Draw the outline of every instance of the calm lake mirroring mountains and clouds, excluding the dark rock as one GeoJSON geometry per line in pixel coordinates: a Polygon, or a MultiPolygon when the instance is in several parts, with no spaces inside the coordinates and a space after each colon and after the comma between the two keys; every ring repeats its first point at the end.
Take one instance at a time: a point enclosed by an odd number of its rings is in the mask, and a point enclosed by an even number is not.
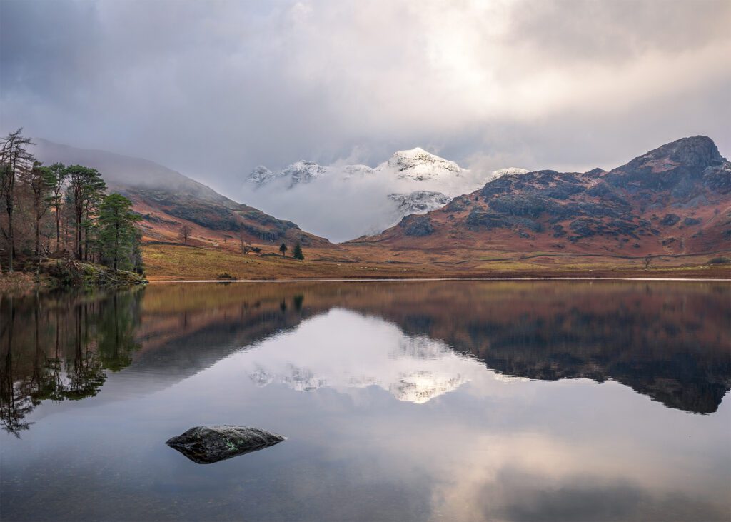
{"type": "Polygon", "coordinates": [[[0,301],[0,517],[728,521],[731,284],[151,284],[0,301]],[[214,464],[197,425],[287,437],[214,464]]]}

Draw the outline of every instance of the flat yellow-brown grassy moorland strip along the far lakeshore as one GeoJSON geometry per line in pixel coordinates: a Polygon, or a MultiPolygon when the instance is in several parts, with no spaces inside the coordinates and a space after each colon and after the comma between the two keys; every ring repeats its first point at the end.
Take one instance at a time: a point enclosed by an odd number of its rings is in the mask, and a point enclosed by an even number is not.
{"type": "MultiPolygon", "coordinates": [[[[150,281],[223,279],[374,279],[501,277],[689,277],[731,278],[721,254],[645,257],[471,249],[417,251],[387,246],[333,245],[305,250],[305,260],[283,257],[275,246],[258,254],[180,244],[143,246],[150,281]],[[718,261],[718,260],[716,260],[718,261]]],[[[731,256],[731,251],[728,252],[731,256]]]]}

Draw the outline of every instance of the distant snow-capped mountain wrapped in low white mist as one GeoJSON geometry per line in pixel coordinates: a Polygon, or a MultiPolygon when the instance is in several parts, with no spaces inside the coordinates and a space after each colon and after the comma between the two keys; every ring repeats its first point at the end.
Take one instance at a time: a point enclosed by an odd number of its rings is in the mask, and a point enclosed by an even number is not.
{"type": "Polygon", "coordinates": [[[409,214],[441,208],[455,195],[477,189],[490,179],[522,172],[527,171],[509,168],[483,175],[417,147],[396,151],[376,167],[299,161],[272,171],[260,165],[246,178],[245,189],[252,190],[273,213],[287,214],[314,229],[322,227],[325,234],[343,235],[314,218],[327,208],[328,218],[346,224],[344,235],[353,238],[381,232],[409,214]],[[284,206],[282,197],[292,189],[297,189],[300,197],[284,206]],[[332,204],[355,194],[361,202],[369,202],[357,214],[352,212],[352,204],[332,204]]]}

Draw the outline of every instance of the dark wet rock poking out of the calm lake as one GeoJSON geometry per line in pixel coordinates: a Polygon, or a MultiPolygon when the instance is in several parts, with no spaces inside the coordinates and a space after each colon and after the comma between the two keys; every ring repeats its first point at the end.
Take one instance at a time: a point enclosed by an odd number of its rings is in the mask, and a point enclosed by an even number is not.
{"type": "Polygon", "coordinates": [[[212,464],[282,442],[285,437],[246,426],[195,426],[165,444],[198,464],[212,464]]]}

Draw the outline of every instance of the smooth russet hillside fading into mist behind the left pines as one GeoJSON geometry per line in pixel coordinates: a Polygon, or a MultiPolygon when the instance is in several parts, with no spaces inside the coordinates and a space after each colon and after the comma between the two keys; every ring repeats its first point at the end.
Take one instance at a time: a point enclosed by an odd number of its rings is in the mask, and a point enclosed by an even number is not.
{"type": "Polygon", "coordinates": [[[231,240],[300,241],[324,245],[324,238],[300,230],[296,224],[242,203],[236,203],[181,173],[146,159],[122,156],[36,140],[33,153],[45,164],[83,164],[102,173],[110,192],[129,197],[143,216],[146,241],[178,241],[183,224],[192,229],[194,244],[218,245],[231,240]]]}

